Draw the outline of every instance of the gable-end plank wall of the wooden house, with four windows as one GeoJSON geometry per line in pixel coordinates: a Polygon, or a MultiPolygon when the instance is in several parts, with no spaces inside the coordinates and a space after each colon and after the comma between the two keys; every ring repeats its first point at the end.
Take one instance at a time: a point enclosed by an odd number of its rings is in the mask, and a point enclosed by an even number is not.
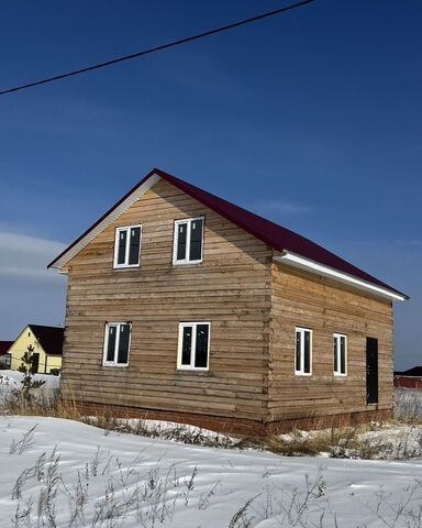
{"type": "Polygon", "coordinates": [[[263,421],[273,251],[160,180],[68,264],[63,394],[85,403],[263,421]],[[203,262],[173,265],[174,221],[204,216],[203,262]],[[142,224],[141,266],[113,270],[115,228],[142,224]],[[177,371],[178,324],[210,321],[209,372],[177,371]],[[129,367],[104,324],[132,321],[129,367]]]}

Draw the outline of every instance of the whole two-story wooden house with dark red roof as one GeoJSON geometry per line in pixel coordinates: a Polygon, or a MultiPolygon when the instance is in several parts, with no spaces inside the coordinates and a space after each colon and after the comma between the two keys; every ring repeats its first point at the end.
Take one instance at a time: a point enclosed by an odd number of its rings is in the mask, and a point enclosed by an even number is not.
{"type": "Polygon", "coordinates": [[[63,396],[262,432],[392,409],[392,302],[310,240],[159,169],[49,266],[68,275],[63,396]]]}

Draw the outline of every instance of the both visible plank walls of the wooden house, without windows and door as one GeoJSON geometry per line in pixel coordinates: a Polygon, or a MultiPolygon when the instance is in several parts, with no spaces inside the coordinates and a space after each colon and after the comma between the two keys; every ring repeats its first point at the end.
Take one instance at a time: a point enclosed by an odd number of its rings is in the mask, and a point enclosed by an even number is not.
{"type": "MultiPolygon", "coordinates": [[[[275,424],[390,409],[391,305],[273,263],[273,250],[160,180],[67,266],[65,398],[275,424]],[[206,217],[203,262],[174,266],[177,219],[206,217]],[[141,267],[113,270],[116,227],[142,224],[141,267]],[[209,372],[177,371],[178,323],[211,321],[209,372]],[[127,369],[102,365],[104,324],[132,321],[127,369]],[[312,376],[295,375],[295,328],[313,330],[312,376]],[[333,333],[348,337],[333,375],[333,333]],[[379,340],[366,406],[366,337],[379,340]]],[[[195,421],[195,420],[193,420],[195,421]]]]}

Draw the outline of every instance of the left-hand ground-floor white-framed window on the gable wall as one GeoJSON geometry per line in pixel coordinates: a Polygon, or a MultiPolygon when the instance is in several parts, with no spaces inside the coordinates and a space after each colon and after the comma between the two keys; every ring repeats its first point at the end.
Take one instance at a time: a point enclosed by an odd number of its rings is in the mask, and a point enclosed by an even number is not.
{"type": "Polygon", "coordinates": [[[108,322],[106,324],[104,366],[127,366],[131,350],[131,322],[108,322]]]}

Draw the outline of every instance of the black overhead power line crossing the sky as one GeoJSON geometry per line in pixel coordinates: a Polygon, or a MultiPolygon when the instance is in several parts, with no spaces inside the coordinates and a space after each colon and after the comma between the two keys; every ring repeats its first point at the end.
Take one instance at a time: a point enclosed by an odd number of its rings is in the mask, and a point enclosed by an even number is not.
{"type": "Polygon", "coordinates": [[[291,11],[293,9],[302,8],[309,3],[314,2],[315,0],[303,0],[300,2],[291,3],[290,6],[285,6],[284,8],[275,9],[274,11],[268,11],[266,13],[257,14],[256,16],[251,16],[248,19],[240,20],[227,25],[222,25],[220,28],[214,28],[213,30],[204,31],[202,33],[197,33],[196,35],[186,36],[185,38],[179,38],[178,41],[167,42],[166,44],[160,44],[155,47],[149,47],[148,50],[143,50],[141,52],[132,53],[131,55],[124,55],[121,57],[112,58],[103,63],[95,64],[92,66],[87,66],[85,68],[75,69],[66,74],[55,75],[53,77],[47,77],[45,79],[35,80],[34,82],[27,82],[25,85],[15,86],[14,88],[8,88],[7,90],[0,91],[0,96],[5,96],[13,91],[25,90],[27,88],[33,88],[34,86],[46,85],[48,82],[54,82],[56,80],[66,79],[67,77],[74,77],[75,75],[86,74],[88,72],[93,72],[95,69],[107,68],[113,66],[114,64],[123,63],[125,61],[132,61],[133,58],[143,57],[144,55],[151,55],[152,53],[162,52],[168,50],[169,47],[180,46],[192,41],[198,41],[199,38],[204,38],[206,36],[215,35],[216,33],[222,33],[224,31],[233,30],[240,28],[241,25],[251,24],[252,22],[257,22],[263,19],[268,19],[269,16],[275,16],[276,14],[285,13],[286,11],[291,11]]]}

